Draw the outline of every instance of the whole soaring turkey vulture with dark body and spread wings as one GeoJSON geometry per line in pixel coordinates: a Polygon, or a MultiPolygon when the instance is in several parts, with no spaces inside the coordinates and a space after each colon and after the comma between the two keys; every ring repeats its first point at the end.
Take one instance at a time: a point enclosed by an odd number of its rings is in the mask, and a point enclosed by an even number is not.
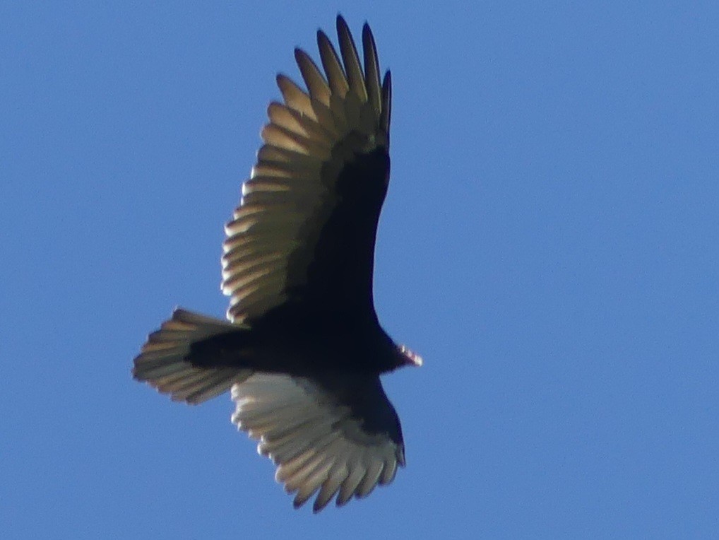
{"type": "Polygon", "coordinates": [[[226,225],[229,322],[176,309],[134,359],[134,378],[196,404],[232,389],[232,421],[278,465],[295,508],[318,512],[395,477],[400,422],[380,374],[420,366],[377,320],[377,220],[390,174],[390,72],[380,83],[370,27],[364,67],[337,17],[339,55],[319,30],[324,75],[300,49],[306,83],[277,83],[264,144],[226,225]]]}

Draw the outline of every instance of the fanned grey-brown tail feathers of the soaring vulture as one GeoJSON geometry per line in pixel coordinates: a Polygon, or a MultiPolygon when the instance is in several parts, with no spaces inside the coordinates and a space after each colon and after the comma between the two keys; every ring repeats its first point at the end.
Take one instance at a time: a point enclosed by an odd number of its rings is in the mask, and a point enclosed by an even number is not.
{"type": "Polygon", "coordinates": [[[226,392],[236,382],[252,374],[250,369],[230,366],[198,367],[186,360],[192,343],[211,336],[237,330],[237,325],[224,320],[176,309],[150,334],[142,351],[134,359],[132,375],[162,393],[169,393],[174,401],[196,405],[226,392]]]}

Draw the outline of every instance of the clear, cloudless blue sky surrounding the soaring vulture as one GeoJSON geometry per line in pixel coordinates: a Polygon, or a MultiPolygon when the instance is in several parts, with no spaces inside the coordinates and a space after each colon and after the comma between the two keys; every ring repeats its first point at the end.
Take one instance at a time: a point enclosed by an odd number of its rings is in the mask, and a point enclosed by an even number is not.
{"type": "Polygon", "coordinates": [[[715,2],[0,4],[3,538],[719,534],[715,2]],[[62,5],[62,6],[61,6],[62,5]],[[375,303],[390,487],[319,516],[132,381],[222,316],[275,73],[338,12],[393,73],[375,303]]]}

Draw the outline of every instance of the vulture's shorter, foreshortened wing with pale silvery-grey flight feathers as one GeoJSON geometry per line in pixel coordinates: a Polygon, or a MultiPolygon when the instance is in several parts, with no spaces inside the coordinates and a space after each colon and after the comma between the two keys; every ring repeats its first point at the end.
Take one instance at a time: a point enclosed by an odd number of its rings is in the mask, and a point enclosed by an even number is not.
{"type": "Polygon", "coordinates": [[[295,508],[319,494],[318,512],[392,482],[405,464],[399,419],[378,377],[324,379],[254,374],[232,387],[232,421],[278,464],[278,482],[297,492],[295,508]]]}

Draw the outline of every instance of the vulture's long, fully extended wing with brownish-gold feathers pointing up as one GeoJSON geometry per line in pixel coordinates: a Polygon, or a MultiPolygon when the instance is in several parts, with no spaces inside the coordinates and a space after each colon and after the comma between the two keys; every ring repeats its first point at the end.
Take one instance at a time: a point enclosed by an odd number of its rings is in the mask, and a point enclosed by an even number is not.
{"type": "Polygon", "coordinates": [[[374,312],[375,233],[389,179],[390,73],[380,86],[367,24],[364,70],[342,17],[337,33],[342,61],[317,34],[326,78],[295,50],[308,93],[278,76],[284,103],[267,109],[265,144],[225,228],[222,290],[231,297],[230,320],[257,318],[287,300],[323,312],[374,312]]]}

